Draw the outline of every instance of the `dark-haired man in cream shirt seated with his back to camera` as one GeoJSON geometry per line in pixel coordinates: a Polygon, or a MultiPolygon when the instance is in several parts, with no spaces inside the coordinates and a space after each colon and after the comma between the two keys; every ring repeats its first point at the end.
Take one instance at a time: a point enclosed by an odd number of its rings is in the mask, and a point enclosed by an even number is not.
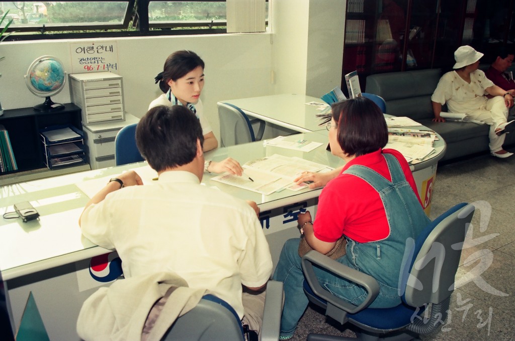
{"type": "Polygon", "coordinates": [[[84,208],[82,234],[116,249],[126,278],[175,273],[227,301],[259,332],[264,295],[242,300],[243,289],[260,292],[272,271],[259,208],[200,184],[202,142],[199,120],[186,107],[150,109],[136,143],[159,181],[143,186],[134,171],[111,179],[84,208]]]}

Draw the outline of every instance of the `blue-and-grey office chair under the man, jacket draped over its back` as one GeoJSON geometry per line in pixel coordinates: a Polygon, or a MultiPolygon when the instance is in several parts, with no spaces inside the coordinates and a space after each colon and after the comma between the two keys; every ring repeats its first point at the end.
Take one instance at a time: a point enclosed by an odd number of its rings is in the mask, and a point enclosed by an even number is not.
{"type": "MultiPolygon", "coordinates": [[[[262,341],[279,340],[283,302],[283,283],[268,281],[265,310],[261,328],[262,341]]],[[[244,340],[242,322],[229,304],[213,295],[205,295],[200,302],[179,317],[161,341],[244,340]]]]}

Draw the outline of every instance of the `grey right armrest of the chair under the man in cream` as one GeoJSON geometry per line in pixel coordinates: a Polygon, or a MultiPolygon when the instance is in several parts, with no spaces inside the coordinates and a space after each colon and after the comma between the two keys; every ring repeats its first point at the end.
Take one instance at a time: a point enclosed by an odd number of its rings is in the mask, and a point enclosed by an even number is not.
{"type": "Polygon", "coordinates": [[[283,283],[268,281],[266,284],[265,310],[261,326],[261,341],[279,340],[281,314],[283,311],[283,283]]]}

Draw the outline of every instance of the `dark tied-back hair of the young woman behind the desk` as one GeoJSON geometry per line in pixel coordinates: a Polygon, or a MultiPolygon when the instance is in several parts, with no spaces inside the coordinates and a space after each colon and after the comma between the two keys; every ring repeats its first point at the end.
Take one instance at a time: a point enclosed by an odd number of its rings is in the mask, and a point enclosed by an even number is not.
{"type": "Polygon", "coordinates": [[[204,61],[197,53],[188,50],[175,51],[166,58],[163,66],[163,79],[159,82],[159,87],[163,93],[167,93],[170,80],[177,81],[179,78],[197,67],[204,69],[204,61]]]}

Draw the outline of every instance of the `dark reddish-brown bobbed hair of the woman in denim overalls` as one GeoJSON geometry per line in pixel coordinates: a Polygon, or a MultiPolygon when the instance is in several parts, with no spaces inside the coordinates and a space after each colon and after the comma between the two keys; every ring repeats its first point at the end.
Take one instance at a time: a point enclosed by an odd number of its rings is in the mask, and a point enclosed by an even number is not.
{"type": "Polygon", "coordinates": [[[382,149],[388,142],[383,113],[370,99],[356,97],[332,105],[337,140],[349,156],[361,156],[382,149]]]}

